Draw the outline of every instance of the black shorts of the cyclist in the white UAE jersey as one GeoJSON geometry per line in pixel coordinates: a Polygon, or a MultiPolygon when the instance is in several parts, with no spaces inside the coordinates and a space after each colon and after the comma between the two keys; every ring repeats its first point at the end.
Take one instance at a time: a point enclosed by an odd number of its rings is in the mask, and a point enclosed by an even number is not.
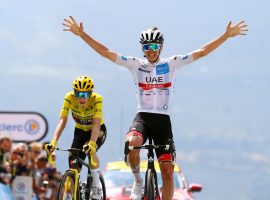
{"type": "MultiPolygon", "coordinates": [[[[142,134],[143,144],[148,137],[152,137],[156,145],[166,145],[169,139],[173,140],[169,115],[139,112],[129,128],[129,133],[132,131],[142,134]]],[[[157,158],[160,158],[163,154],[170,154],[170,152],[165,149],[156,149],[157,158]]]]}

